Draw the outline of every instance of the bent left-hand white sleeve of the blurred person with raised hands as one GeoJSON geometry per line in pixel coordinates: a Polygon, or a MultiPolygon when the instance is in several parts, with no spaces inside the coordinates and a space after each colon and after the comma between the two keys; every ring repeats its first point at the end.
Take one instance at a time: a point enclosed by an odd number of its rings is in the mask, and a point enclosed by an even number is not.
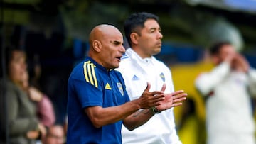
{"type": "Polygon", "coordinates": [[[198,89],[198,91],[201,92],[203,96],[207,96],[229,72],[230,65],[227,62],[221,63],[211,72],[200,74],[196,78],[196,89],[198,89]]]}

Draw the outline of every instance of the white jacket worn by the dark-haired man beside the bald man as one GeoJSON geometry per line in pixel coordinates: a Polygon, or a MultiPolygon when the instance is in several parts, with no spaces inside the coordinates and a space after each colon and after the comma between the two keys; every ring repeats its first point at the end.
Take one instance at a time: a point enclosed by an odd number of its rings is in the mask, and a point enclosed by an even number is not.
{"type": "MultiPolygon", "coordinates": [[[[132,48],[126,50],[117,69],[122,73],[127,92],[131,100],[138,99],[146,89],[146,82],[151,84],[150,91],[161,90],[166,83],[165,93],[174,92],[171,71],[155,57],[142,59],[132,48]]],[[[133,131],[122,126],[124,144],[181,144],[176,134],[173,108],[153,116],[144,125],[133,131]]]]}

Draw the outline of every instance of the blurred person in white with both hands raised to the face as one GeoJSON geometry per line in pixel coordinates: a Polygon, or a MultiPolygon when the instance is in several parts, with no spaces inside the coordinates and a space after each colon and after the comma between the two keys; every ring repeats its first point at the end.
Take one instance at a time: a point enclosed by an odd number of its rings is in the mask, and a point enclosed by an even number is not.
{"type": "Polygon", "coordinates": [[[208,144],[255,144],[255,123],[250,96],[256,96],[256,70],[233,45],[210,47],[215,65],[196,78],[196,88],[206,99],[208,144]]]}

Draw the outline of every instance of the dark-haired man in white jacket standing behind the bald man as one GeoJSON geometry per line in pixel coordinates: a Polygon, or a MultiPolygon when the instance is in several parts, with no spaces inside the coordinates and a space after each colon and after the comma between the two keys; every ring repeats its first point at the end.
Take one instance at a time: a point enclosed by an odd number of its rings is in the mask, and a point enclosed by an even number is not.
{"type": "MultiPolygon", "coordinates": [[[[124,32],[131,48],[128,48],[117,69],[122,73],[126,89],[131,100],[138,99],[147,82],[150,91],[160,90],[166,84],[165,93],[174,92],[174,84],[169,67],[157,60],[154,55],[161,52],[163,35],[158,16],[152,13],[132,13],[124,22],[124,32]]],[[[156,116],[134,131],[122,126],[124,144],[180,144],[174,123],[174,109],[167,111],[156,109],[156,116]],[[161,113],[160,113],[161,112],[161,113]]],[[[149,109],[143,109],[143,115],[149,109]]],[[[139,115],[138,114],[138,115],[139,115]]]]}

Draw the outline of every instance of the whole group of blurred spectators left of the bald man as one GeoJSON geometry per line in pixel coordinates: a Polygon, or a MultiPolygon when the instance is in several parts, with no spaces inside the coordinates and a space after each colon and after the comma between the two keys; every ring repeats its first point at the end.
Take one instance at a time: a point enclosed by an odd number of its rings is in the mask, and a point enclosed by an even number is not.
{"type": "Polygon", "coordinates": [[[6,78],[0,81],[0,143],[65,143],[65,123],[55,123],[52,101],[41,92],[40,65],[28,72],[26,52],[6,48],[6,78]],[[4,98],[4,99],[2,99],[4,98]]]}

